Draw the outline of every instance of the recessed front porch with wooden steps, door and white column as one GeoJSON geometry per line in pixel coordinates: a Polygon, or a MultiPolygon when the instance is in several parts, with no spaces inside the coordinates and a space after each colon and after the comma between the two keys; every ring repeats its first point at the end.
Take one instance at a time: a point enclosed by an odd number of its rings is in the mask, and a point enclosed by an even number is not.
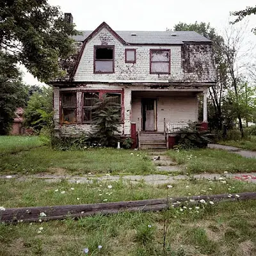
{"type": "Polygon", "coordinates": [[[172,148],[175,136],[188,122],[198,121],[197,95],[204,93],[204,122],[207,129],[205,92],[132,92],[131,138],[138,148],[172,148]]]}

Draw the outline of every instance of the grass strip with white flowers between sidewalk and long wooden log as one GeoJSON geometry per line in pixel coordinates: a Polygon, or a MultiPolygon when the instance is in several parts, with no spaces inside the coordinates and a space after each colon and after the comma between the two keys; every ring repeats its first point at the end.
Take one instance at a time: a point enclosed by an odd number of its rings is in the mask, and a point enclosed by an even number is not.
{"type": "Polygon", "coordinates": [[[23,182],[15,179],[0,180],[0,202],[4,207],[10,208],[256,191],[256,184],[237,180],[227,180],[225,184],[221,180],[182,180],[172,186],[173,188],[168,189],[166,185],[150,186],[144,182],[127,184],[123,180],[110,183],[95,181],[92,184],[70,184],[66,181],[49,183],[37,179],[23,182]],[[109,185],[112,188],[108,188],[109,185]]]}

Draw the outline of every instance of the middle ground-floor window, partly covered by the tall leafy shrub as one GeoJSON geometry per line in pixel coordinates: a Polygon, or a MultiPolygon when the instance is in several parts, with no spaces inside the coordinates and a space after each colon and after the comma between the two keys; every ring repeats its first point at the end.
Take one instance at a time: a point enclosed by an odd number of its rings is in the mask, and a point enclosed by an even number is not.
{"type": "Polygon", "coordinates": [[[99,99],[99,93],[84,92],[83,122],[92,122],[95,118],[95,104],[99,99]]]}

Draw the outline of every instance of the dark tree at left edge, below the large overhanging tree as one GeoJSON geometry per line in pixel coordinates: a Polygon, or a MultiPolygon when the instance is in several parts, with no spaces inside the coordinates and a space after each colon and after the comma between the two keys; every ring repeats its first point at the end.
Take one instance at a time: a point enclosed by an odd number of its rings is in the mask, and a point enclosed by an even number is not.
{"type": "Polygon", "coordinates": [[[14,111],[25,104],[27,88],[22,74],[13,67],[13,56],[0,51],[0,135],[8,134],[14,111]]]}

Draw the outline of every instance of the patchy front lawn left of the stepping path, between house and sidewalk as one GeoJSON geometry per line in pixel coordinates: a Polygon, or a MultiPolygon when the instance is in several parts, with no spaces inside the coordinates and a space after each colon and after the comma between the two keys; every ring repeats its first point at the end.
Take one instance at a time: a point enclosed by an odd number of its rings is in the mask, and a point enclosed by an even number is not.
{"type": "Polygon", "coordinates": [[[115,148],[60,151],[45,146],[0,158],[1,173],[148,174],[155,170],[144,152],[115,148]]]}

